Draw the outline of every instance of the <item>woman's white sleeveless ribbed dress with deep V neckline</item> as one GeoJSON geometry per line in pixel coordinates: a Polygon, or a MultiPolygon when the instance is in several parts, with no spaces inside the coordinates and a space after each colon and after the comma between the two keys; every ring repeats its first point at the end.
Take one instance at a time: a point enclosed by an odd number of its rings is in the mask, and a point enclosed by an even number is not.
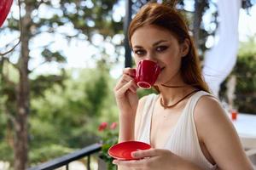
{"type": "MultiPolygon", "coordinates": [[[[171,133],[167,134],[169,137],[167,138],[164,148],[160,149],[171,150],[172,153],[181,156],[188,161],[194,162],[202,169],[212,170],[216,169],[217,166],[212,165],[212,163],[203,155],[197,138],[194,121],[195,105],[203,95],[211,94],[199,91],[189,98],[176,125],[172,127],[171,133]]],[[[150,144],[151,117],[157,98],[158,95],[156,94],[149,94],[147,96],[143,109],[142,122],[139,127],[138,141],[150,144]]]]}

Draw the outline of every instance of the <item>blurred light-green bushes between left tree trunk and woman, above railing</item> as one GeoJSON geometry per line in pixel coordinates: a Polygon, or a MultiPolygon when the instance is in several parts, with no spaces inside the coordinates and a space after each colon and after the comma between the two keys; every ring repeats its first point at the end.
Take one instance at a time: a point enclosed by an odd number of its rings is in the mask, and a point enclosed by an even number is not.
{"type": "Polygon", "coordinates": [[[44,91],[42,97],[32,99],[32,163],[57,156],[58,152],[46,145],[60,145],[74,150],[99,141],[100,133],[96,133],[98,124],[117,120],[117,108],[113,95],[109,93],[114,81],[109,77],[108,70],[96,68],[68,72],[64,88],[54,84],[44,91]],[[39,159],[42,150],[44,156],[39,159]]]}

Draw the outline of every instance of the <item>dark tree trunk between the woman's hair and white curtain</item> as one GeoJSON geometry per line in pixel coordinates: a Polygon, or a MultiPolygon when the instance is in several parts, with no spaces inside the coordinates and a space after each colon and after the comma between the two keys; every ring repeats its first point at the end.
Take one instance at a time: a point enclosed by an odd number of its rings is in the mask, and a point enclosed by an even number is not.
{"type": "Polygon", "coordinates": [[[200,27],[204,8],[207,6],[207,0],[195,0],[195,14],[193,21],[193,37],[195,40],[195,47],[200,47],[200,27]]]}

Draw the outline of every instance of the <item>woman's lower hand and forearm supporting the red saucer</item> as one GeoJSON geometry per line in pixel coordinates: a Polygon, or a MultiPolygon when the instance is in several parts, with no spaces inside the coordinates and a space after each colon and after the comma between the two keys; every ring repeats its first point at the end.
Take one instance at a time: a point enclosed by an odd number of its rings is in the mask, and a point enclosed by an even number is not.
{"type": "Polygon", "coordinates": [[[170,150],[150,149],[139,150],[131,153],[138,160],[120,161],[114,160],[113,164],[129,169],[147,170],[172,170],[172,169],[200,169],[189,161],[173,154],[170,150]]]}

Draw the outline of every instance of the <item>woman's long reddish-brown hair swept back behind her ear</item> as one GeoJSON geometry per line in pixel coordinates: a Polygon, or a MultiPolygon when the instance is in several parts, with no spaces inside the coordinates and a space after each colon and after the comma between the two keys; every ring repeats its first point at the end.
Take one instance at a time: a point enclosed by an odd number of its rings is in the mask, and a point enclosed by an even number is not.
{"type": "MultiPolygon", "coordinates": [[[[175,8],[166,4],[147,3],[135,15],[128,30],[128,38],[131,46],[131,36],[142,26],[160,26],[172,33],[179,43],[189,40],[189,53],[182,58],[181,76],[183,81],[195,88],[209,92],[207,83],[201,73],[200,59],[197,55],[195,44],[189,36],[189,28],[175,8]]],[[[159,89],[155,87],[159,92],[159,89]]]]}

